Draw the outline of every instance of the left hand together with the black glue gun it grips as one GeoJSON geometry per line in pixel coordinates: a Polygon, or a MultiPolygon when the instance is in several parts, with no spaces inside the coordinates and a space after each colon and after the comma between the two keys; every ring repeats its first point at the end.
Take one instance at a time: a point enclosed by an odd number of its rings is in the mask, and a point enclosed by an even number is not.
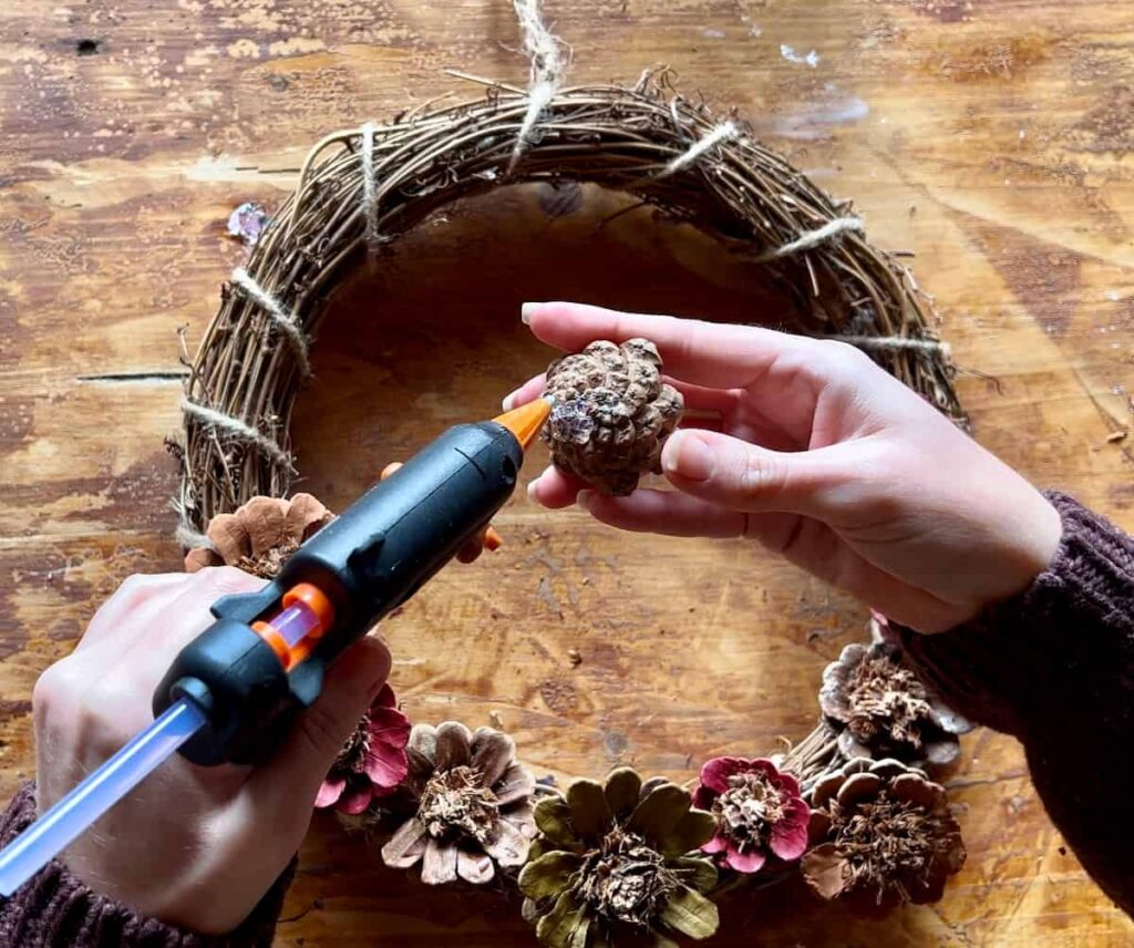
{"type": "Polygon", "coordinates": [[[67,848],[75,875],[137,912],[200,932],[239,924],[386,682],[389,652],[366,632],[451,559],[499,542],[489,522],[548,412],[536,400],[450,429],[266,585],[229,568],[124,585],[36,685],[40,818],[0,850],[0,896],[67,848]]]}

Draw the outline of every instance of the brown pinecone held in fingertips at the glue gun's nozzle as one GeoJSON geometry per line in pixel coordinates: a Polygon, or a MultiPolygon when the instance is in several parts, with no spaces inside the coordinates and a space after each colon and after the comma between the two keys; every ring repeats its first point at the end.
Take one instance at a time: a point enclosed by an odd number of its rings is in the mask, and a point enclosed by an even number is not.
{"type": "Polygon", "coordinates": [[[632,493],[645,472],[661,471],[662,445],[684,407],[646,339],[592,342],[557,359],[544,395],[552,408],[543,438],[556,466],[615,496],[632,493]]]}

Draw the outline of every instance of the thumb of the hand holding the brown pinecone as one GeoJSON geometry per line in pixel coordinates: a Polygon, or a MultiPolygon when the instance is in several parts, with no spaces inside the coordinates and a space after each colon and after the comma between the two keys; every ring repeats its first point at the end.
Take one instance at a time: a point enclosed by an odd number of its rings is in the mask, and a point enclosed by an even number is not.
{"type": "Polygon", "coordinates": [[[678,490],[733,510],[822,520],[832,511],[831,455],[837,450],[770,451],[727,434],[685,429],[666,441],[661,467],[678,490]]]}

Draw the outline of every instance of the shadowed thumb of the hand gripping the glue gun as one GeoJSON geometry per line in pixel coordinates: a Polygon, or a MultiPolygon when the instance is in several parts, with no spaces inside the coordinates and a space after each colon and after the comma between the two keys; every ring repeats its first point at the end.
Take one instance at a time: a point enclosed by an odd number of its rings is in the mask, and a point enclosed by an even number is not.
{"type": "Polygon", "coordinates": [[[323,693],[296,719],[272,760],[256,771],[269,795],[282,792],[284,805],[311,809],[319,786],[344,743],[357,727],[390,674],[390,650],[373,635],[356,642],[331,666],[323,693]]]}

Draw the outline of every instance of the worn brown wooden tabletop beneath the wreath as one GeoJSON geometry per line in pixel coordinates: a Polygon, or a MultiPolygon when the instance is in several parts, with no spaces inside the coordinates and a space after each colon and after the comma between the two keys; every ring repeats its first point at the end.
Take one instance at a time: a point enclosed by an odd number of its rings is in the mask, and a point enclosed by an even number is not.
{"type": "MultiPolygon", "coordinates": [[[[1134,8],[550,0],[548,16],[575,79],[668,62],[853,197],[879,244],[915,251],[979,438],[1134,527],[1134,8]]],[[[503,0],[0,8],[0,790],[33,772],[36,676],[124,577],[178,567],[177,331],[196,345],[242,259],[229,211],[279,203],[328,129],[481,94],[443,67],[522,82],[516,44],[503,0]]],[[[355,274],[297,409],[304,485],[341,506],[491,414],[548,358],[523,299],[784,318],[704,238],[644,213],[599,228],[618,202],[500,193],[355,274]]],[[[863,634],[861,608],[745,545],[620,536],[524,501],[500,528],[505,550],[389,623],[393,682],[416,719],[502,726],[539,772],[686,779],[708,754],[772,750],[806,733],[821,668],[863,634]]],[[[964,754],[970,857],[943,902],[866,923],[773,892],[733,905],[714,943],[1129,943],[1014,743],[978,731],[964,754]]],[[[285,916],[289,946],[531,941],[515,905],[426,891],[323,818],[285,916]]]]}

